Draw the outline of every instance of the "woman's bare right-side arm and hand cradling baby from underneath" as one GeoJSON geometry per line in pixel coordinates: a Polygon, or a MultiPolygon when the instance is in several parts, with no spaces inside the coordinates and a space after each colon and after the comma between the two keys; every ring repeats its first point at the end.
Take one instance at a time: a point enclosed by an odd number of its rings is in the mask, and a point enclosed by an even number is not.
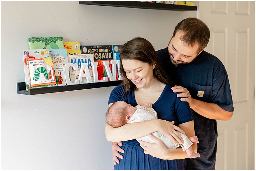
{"type": "MultiPolygon", "coordinates": [[[[179,127],[185,131],[185,135],[187,135],[188,137],[195,136],[194,121],[182,123],[179,125],[179,127]]],[[[188,158],[187,153],[184,152],[182,148],[167,149],[160,139],[154,137],[153,135],[150,135],[150,137],[156,142],[156,144],[147,143],[139,140],[140,146],[144,149],[145,154],[150,154],[153,157],[157,157],[159,159],[164,160],[188,158]]],[[[193,151],[197,152],[197,144],[193,143],[193,145],[191,146],[193,151]]]]}

